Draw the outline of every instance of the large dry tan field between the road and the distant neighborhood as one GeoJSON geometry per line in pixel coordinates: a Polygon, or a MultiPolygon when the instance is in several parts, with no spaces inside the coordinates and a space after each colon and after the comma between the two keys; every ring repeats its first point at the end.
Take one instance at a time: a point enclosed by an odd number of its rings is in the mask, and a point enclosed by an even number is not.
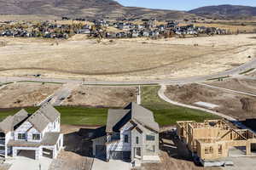
{"type": "Polygon", "coordinates": [[[208,75],[254,56],[253,34],[161,40],[70,40],[0,37],[0,76],[156,80],[208,75]],[[15,62],[19,60],[19,62],[15,62]],[[15,63],[15,65],[13,65],[15,63]]]}

